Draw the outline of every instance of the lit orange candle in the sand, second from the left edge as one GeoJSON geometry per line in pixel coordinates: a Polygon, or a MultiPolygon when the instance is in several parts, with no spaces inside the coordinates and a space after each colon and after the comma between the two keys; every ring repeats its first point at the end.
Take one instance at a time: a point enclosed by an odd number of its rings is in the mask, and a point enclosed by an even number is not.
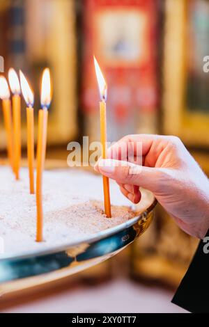
{"type": "Polygon", "coordinates": [[[21,160],[21,102],[20,81],[13,68],[8,72],[10,89],[13,93],[13,133],[14,133],[14,172],[16,180],[19,180],[21,160]]]}

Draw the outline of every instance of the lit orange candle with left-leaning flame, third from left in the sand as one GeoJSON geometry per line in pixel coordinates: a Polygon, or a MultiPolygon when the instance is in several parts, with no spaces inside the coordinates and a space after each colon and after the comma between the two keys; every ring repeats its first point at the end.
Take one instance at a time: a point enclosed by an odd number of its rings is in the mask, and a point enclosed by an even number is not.
{"type": "Polygon", "coordinates": [[[30,193],[34,193],[34,96],[28,81],[20,70],[20,85],[22,95],[26,102],[26,120],[27,120],[27,155],[29,165],[30,193]]]}

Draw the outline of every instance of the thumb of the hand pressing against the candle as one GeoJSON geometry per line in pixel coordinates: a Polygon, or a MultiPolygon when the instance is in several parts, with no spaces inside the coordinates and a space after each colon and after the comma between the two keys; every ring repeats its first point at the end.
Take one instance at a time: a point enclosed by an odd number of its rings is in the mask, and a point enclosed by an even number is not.
{"type": "Polygon", "coordinates": [[[129,161],[100,159],[97,170],[121,184],[142,186],[153,192],[159,187],[159,168],[139,166],[129,161]]]}

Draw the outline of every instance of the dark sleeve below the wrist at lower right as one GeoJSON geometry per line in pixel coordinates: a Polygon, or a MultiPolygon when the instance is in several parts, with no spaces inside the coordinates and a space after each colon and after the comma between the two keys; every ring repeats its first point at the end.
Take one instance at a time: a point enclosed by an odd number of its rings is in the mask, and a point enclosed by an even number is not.
{"type": "Polygon", "coordinates": [[[200,242],[172,303],[189,312],[209,313],[209,233],[200,242]]]}

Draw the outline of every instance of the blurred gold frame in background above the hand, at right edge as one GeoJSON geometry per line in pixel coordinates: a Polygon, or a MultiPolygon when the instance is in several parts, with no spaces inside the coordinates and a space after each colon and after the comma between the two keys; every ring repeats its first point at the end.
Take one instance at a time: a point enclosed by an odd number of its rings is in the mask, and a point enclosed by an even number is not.
{"type": "Polygon", "coordinates": [[[187,0],[165,4],[163,131],[179,136],[186,145],[208,147],[209,108],[208,113],[188,111],[185,103],[189,4],[187,0]]]}

